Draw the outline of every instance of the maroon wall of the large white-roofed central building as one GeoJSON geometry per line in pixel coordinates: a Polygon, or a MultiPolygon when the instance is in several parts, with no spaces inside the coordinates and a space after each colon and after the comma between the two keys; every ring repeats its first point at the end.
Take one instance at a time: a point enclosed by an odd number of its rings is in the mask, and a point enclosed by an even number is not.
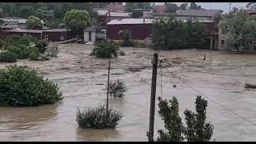
{"type": "Polygon", "coordinates": [[[118,40],[118,32],[120,30],[130,30],[132,38],[136,40],[144,40],[149,37],[152,30],[152,24],[134,24],[134,25],[107,25],[106,26],[106,37],[118,40]]]}

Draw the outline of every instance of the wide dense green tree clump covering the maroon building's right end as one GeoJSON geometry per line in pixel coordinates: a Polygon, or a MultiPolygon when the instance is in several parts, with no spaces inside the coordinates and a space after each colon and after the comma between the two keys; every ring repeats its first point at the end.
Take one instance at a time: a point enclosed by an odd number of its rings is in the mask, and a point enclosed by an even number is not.
{"type": "Polygon", "coordinates": [[[167,21],[160,20],[153,25],[153,44],[156,49],[203,48],[205,30],[202,22],[188,19],[177,20],[172,15],[167,21]],[[195,22],[194,22],[195,21],[195,22]]]}

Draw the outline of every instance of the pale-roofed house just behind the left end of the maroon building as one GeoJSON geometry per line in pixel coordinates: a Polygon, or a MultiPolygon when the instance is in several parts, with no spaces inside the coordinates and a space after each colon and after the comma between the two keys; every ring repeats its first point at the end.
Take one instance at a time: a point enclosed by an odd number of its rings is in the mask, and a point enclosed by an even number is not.
{"type": "Polygon", "coordinates": [[[99,16],[99,23],[103,26],[113,19],[130,18],[130,13],[111,12],[110,10],[96,10],[96,12],[99,16]]]}

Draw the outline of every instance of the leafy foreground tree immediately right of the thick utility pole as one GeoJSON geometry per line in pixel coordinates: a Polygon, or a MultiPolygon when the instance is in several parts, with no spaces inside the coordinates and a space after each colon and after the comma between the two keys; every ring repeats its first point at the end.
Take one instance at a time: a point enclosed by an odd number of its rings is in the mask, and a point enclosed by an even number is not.
{"type": "Polygon", "coordinates": [[[182,142],[184,126],[182,126],[182,118],[178,114],[178,100],[173,97],[167,102],[166,99],[158,98],[158,106],[160,117],[165,123],[166,130],[158,130],[160,142],[182,142]],[[164,132],[165,131],[165,132],[164,132]]]}

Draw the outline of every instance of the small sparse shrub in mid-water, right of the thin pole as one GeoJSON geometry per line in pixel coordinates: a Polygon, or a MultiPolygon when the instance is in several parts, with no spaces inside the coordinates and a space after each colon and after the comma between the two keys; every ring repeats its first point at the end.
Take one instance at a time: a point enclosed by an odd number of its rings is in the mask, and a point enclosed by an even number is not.
{"type": "Polygon", "coordinates": [[[115,82],[110,82],[110,96],[114,97],[122,97],[124,96],[124,93],[126,93],[127,88],[124,84],[124,82],[121,82],[119,80],[115,82]]]}

